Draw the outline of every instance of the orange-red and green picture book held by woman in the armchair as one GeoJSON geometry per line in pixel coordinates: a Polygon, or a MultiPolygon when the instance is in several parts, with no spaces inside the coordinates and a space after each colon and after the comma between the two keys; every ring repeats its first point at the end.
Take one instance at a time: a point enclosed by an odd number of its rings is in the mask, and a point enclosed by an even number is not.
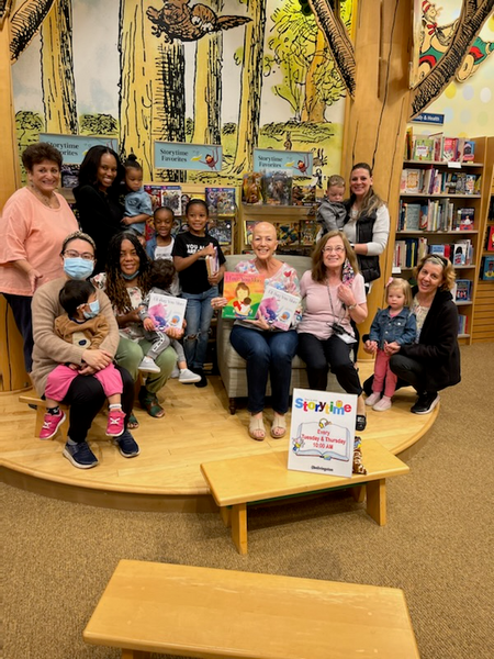
{"type": "Polygon", "coordinates": [[[244,272],[225,272],[223,297],[227,304],[222,316],[229,320],[255,320],[265,293],[265,277],[244,272]]]}

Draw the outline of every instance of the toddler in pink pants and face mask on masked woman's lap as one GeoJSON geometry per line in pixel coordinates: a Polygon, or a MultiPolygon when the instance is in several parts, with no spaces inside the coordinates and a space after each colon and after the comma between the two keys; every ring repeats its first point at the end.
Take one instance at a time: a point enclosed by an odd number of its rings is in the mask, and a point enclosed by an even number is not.
{"type": "MultiPolygon", "coordinates": [[[[109,333],[108,321],[100,314],[96,288],[87,280],[68,280],[59,293],[65,314],[55,319],[55,334],[69,344],[98,349],[109,333]]],[[[49,373],[46,382],[46,414],[40,439],[53,437],[65,421],[58,403],[65,399],[69,387],[79,375],[76,364],[60,364],[49,373]]],[[[124,432],[125,413],[122,411],[122,377],[113,364],[96,371],[93,376],[102,386],[110,404],[106,436],[120,437],[124,432]]]]}

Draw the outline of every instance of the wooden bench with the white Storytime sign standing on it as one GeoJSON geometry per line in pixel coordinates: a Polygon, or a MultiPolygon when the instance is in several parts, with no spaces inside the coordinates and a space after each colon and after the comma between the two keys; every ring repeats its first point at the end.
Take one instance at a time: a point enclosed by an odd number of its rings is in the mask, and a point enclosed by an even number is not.
{"type": "Polygon", "coordinates": [[[351,478],[291,471],[288,451],[273,451],[201,465],[201,471],[220,506],[239,554],[247,554],[247,504],[294,494],[353,488],[357,501],[367,495],[367,512],[383,526],[386,523],[386,478],[408,473],[409,468],[373,439],[362,440],[367,474],[351,478]],[[231,506],[231,507],[229,507],[231,506]]]}

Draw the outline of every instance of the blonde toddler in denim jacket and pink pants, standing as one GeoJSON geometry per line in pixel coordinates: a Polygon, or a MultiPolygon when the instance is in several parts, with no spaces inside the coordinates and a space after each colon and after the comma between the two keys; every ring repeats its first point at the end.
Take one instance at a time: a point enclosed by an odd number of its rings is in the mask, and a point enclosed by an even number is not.
{"type": "Polygon", "coordinates": [[[391,353],[388,346],[413,344],[417,336],[417,322],[409,306],[412,289],[405,279],[390,279],[386,287],[386,309],[380,309],[372,321],[366,348],[375,354],[372,394],[366,399],[377,412],[391,407],[391,396],[396,389],[396,376],[390,369],[391,353]],[[384,391],[381,398],[381,392],[384,391]]]}

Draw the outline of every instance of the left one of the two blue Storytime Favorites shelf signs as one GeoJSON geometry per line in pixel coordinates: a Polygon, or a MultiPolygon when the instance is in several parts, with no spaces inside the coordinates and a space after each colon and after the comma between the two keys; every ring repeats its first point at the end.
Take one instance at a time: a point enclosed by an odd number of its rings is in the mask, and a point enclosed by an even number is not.
{"type": "Polygon", "coordinates": [[[221,171],[223,148],[215,144],[155,142],[155,169],[221,171]]]}

